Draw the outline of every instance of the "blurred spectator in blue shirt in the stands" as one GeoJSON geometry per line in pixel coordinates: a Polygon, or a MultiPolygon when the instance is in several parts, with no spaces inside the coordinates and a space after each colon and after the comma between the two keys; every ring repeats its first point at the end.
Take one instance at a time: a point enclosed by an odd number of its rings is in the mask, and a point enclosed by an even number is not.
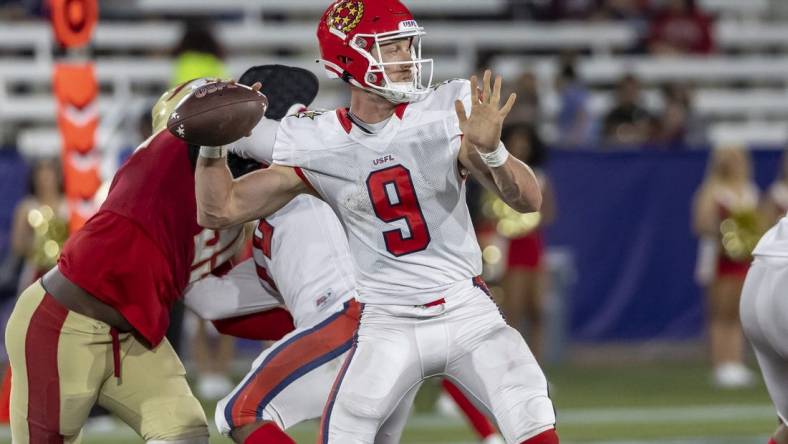
{"type": "Polygon", "coordinates": [[[588,111],[588,88],[577,77],[571,59],[566,59],[560,69],[555,82],[559,97],[556,144],[567,148],[588,148],[594,142],[593,120],[588,111]]]}

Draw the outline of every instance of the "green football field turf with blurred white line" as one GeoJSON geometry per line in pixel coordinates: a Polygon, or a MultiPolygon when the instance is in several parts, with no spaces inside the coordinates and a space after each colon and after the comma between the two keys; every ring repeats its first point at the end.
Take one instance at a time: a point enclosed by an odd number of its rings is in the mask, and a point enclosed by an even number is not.
{"type": "MultiPolygon", "coordinates": [[[[720,391],[702,364],[548,368],[562,443],[765,444],[776,416],[762,383],[720,391]]],[[[403,443],[477,442],[461,418],[442,416],[433,405],[438,384],[425,384],[403,443]]],[[[206,404],[212,417],[213,404],[206,404]]],[[[292,429],[297,442],[314,443],[317,423],[292,429]]],[[[8,429],[0,441],[10,442],[8,429]]],[[[85,432],[86,444],[141,443],[118,423],[115,430],[85,432]]],[[[214,436],[211,443],[229,443],[214,436]]]]}

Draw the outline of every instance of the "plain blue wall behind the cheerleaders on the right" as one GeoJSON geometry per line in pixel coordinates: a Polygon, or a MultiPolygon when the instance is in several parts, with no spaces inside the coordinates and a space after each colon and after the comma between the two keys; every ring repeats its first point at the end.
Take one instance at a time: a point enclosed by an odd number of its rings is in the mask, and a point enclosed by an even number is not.
{"type": "MultiPolygon", "coordinates": [[[[548,242],[569,247],[578,281],[568,295],[570,339],[583,342],[683,340],[704,323],[693,280],[697,239],[692,196],[707,151],[551,154],[558,218],[548,242]]],[[[780,153],[753,152],[761,189],[780,153]]]]}

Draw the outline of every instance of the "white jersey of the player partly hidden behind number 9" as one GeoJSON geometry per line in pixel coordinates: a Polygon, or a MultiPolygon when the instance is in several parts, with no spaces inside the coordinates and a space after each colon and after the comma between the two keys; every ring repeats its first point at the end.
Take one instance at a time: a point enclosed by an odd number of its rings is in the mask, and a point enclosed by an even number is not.
{"type": "Polygon", "coordinates": [[[257,223],[253,256],[260,284],[298,327],[313,325],[356,297],[345,232],[325,202],[300,195],[257,223]]]}

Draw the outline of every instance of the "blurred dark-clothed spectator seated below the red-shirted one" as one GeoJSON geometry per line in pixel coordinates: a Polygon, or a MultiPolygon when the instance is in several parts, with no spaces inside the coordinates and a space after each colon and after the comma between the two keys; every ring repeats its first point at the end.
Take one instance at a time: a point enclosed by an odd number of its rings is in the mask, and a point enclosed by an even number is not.
{"type": "Polygon", "coordinates": [[[705,142],[706,124],[692,108],[689,88],[672,83],[662,89],[664,108],[657,117],[656,141],[667,149],[698,146],[705,142]]]}

